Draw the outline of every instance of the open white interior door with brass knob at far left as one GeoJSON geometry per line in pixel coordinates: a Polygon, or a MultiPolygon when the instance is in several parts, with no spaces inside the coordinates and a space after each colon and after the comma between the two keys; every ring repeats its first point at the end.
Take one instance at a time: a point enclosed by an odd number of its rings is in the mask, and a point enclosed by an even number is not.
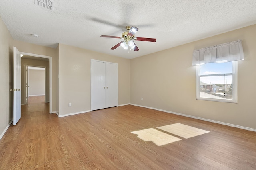
{"type": "Polygon", "coordinates": [[[13,47],[13,125],[21,117],[21,57],[16,47],[13,47]]]}

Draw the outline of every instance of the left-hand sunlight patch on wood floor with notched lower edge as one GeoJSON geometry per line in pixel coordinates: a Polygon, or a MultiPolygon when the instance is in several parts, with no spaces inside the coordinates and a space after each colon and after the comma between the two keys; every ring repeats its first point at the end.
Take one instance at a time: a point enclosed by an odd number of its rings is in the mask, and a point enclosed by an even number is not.
{"type": "Polygon", "coordinates": [[[137,134],[138,138],[142,139],[143,141],[152,141],[157,146],[166,145],[168,143],[180,141],[180,138],[174,137],[172,135],[168,135],[164,132],[158,131],[153,128],[143,129],[140,131],[131,132],[133,134],[137,134]]]}

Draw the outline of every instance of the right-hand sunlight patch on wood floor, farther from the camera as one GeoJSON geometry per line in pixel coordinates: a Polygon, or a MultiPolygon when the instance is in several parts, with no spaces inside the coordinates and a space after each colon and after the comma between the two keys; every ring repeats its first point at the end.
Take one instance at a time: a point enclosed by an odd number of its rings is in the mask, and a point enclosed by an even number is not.
{"type": "Polygon", "coordinates": [[[160,126],[160,127],[156,127],[156,128],[166,131],[168,133],[172,133],[174,135],[178,135],[178,136],[186,138],[186,139],[209,132],[209,131],[205,131],[202,129],[198,129],[196,127],[183,125],[181,123],[175,123],[172,125],[160,126]]]}

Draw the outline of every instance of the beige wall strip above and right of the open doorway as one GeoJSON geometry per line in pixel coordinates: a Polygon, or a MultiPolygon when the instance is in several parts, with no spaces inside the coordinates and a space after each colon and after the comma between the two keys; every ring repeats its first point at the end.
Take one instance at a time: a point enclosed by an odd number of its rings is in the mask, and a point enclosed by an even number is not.
{"type": "Polygon", "coordinates": [[[52,57],[52,111],[57,111],[57,49],[14,40],[14,46],[20,52],[52,57]]]}

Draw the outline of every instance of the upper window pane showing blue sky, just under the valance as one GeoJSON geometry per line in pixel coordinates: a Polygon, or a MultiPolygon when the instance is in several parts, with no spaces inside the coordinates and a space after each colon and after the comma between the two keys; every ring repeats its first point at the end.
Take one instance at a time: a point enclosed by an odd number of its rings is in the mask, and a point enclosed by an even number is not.
{"type": "Polygon", "coordinates": [[[206,63],[200,66],[200,75],[232,73],[232,62],[206,63]]]}

